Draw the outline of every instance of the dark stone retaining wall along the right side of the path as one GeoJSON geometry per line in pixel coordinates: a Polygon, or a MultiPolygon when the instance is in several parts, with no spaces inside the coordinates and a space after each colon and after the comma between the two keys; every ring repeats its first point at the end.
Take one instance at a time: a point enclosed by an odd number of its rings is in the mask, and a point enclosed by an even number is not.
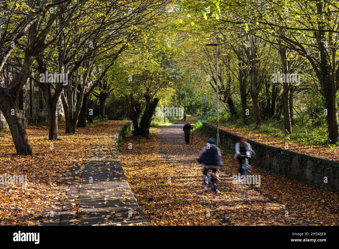
{"type": "MultiPolygon", "coordinates": [[[[216,138],[217,128],[204,123],[202,132],[206,136],[216,138]]],[[[234,151],[235,143],[240,137],[225,130],[219,130],[219,136],[220,145],[234,151]]],[[[257,153],[252,159],[254,165],[319,188],[339,191],[339,162],[276,148],[252,140],[247,140],[247,142],[257,153]]]]}

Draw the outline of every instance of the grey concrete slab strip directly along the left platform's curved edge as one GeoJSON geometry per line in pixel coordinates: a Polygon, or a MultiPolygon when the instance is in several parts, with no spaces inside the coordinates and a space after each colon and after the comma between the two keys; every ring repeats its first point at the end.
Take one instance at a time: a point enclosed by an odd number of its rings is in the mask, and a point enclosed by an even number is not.
{"type": "MultiPolygon", "coordinates": [[[[115,142],[114,138],[113,142],[115,142]]],[[[117,150],[98,147],[79,191],[79,225],[148,225],[128,185],[117,150]],[[132,224],[133,223],[133,224],[132,224]]]]}

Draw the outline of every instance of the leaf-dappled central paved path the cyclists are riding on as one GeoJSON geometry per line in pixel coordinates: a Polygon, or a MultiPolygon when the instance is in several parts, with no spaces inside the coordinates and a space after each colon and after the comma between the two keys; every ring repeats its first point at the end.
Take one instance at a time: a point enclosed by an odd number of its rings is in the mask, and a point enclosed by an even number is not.
{"type": "MultiPolygon", "coordinates": [[[[202,191],[203,168],[196,161],[199,151],[192,145],[185,145],[183,125],[183,122],[177,122],[160,129],[159,140],[162,144],[160,153],[163,159],[171,167],[174,167],[178,174],[181,174],[178,176],[178,181],[182,181],[190,191],[196,194],[208,195],[210,193],[202,191]],[[187,168],[185,175],[182,175],[183,167],[187,168]],[[195,173],[191,173],[190,170],[195,173]],[[200,179],[197,178],[197,172],[200,172],[200,179]]],[[[207,200],[202,199],[202,202],[205,202],[202,205],[206,205],[211,213],[217,216],[220,225],[312,224],[297,219],[291,212],[286,217],[286,210],[288,211],[286,205],[245,185],[233,184],[232,180],[232,176],[221,169],[218,185],[221,193],[217,194],[215,198],[210,194],[207,200]]]]}

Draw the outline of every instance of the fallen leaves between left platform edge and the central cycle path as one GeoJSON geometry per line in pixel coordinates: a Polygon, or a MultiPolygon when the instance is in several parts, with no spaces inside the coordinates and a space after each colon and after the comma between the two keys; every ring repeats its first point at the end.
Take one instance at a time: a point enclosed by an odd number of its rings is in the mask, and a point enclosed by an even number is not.
{"type": "Polygon", "coordinates": [[[206,217],[209,198],[192,191],[202,192],[202,171],[163,158],[159,131],[152,129],[151,139],[127,138],[119,154],[128,183],[147,220],[151,225],[218,225],[213,214],[206,217]],[[127,149],[128,143],[132,143],[133,149],[127,149]],[[187,179],[196,180],[199,186],[188,189],[192,182],[187,183],[187,179]]]}

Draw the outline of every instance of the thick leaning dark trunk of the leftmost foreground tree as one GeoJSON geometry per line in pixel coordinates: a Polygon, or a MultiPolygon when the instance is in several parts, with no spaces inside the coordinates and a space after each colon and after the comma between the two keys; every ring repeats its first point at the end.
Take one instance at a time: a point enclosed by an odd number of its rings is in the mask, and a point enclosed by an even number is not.
{"type": "Polygon", "coordinates": [[[16,98],[11,98],[4,94],[1,94],[1,97],[0,110],[11,130],[17,153],[19,155],[32,155],[32,148],[28,143],[27,133],[19,115],[16,98]]]}

